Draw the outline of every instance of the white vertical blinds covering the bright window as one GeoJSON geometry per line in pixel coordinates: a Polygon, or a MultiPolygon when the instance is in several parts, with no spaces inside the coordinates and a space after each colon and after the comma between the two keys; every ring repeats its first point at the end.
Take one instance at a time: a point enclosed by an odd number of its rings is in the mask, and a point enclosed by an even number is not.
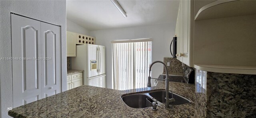
{"type": "Polygon", "coordinates": [[[152,41],[112,43],[112,83],[117,90],[147,86],[152,41]]]}

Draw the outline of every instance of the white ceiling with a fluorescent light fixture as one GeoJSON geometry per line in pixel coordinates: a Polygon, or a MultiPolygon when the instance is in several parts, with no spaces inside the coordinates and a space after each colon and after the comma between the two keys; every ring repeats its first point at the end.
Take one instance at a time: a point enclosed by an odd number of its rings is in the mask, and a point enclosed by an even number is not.
{"type": "Polygon", "coordinates": [[[179,0],[118,0],[124,18],[110,0],[68,0],[67,19],[87,30],[176,23],[179,0]]]}

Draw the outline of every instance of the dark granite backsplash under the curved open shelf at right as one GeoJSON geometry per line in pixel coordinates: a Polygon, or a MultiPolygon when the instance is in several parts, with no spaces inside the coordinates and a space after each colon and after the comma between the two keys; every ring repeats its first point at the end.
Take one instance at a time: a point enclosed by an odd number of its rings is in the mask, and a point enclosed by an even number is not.
{"type": "Polygon", "coordinates": [[[204,85],[202,72],[196,70],[196,117],[256,118],[256,75],[207,72],[204,85]]]}

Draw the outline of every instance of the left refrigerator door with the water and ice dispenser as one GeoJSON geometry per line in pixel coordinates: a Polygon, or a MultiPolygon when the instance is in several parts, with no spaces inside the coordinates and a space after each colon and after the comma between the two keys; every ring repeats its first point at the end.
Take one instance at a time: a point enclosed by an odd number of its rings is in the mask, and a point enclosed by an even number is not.
{"type": "Polygon", "coordinates": [[[88,58],[88,68],[87,68],[87,77],[90,78],[90,77],[93,77],[93,76],[97,76],[98,75],[98,72],[97,72],[97,69],[91,69],[91,60],[97,60],[97,67],[98,67],[98,59],[97,59],[97,48],[98,48],[98,45],[92,45],[92,44],[87,44],[87,58],[88,58]]]}

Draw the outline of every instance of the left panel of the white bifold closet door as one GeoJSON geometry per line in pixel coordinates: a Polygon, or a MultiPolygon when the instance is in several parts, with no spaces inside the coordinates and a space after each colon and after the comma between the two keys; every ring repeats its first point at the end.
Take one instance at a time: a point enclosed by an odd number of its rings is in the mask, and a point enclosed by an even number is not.
{"type": "Polygon", "coordinates": [[[11,14],[13,107],[42,98],[40,21],[11,14]],[[26,58],[26,59],[25,59],[26,58]]]}

